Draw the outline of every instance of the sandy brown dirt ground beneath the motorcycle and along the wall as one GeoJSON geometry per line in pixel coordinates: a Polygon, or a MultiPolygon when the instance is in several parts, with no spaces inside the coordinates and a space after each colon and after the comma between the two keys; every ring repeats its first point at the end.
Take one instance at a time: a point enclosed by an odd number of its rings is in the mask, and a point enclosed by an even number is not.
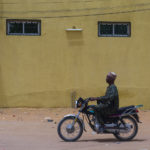
{"type": "Polygon", "coordinates": [[[130,142],[95,134],[87,125],[77,142],[64,142],[57,135],[58,122],[76,112],[71,108],[0,109],[0,150],[150,150],[150,111],[139,112],[143,123],[130,142]]]}

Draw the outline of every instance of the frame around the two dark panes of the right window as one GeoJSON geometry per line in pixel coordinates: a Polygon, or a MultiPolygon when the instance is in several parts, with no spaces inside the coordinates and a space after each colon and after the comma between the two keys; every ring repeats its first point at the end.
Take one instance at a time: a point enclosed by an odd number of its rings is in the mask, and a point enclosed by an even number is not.
{"type": "Polygon", "coordinates": [[[99,37],[130,37],[131,36],[131,23],[130,22],[98,22],[98,36],[99,37]],[[100,33],[100,25],[113,25],[113,33],[112,34],[101,34],[100,33]],[[127,25],[127,35],[124,34],[115,34],[115,25],[127,25]]]}

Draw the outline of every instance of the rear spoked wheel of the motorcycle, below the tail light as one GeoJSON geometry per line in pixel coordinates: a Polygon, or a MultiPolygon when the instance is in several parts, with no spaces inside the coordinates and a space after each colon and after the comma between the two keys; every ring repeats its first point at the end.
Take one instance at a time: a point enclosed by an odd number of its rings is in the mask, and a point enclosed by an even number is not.
{"type": "Polygon", "coordinates": [[[121,121],[119,121],[118,124],[120,129],[119,132],[114,134],[114,136],[121,141],[132,140],[138,132],[137,122],[130,116],[123,117],[122,121],[124,125],[121,121]]]}

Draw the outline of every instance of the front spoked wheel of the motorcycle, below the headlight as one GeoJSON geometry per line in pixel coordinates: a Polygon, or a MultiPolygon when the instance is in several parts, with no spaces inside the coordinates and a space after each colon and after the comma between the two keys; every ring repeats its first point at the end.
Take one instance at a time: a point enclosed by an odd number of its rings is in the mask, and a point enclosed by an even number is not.
{"type": "Polygon", "coordinates": [[[72,142],[78,140],[83,133],[83,126],[79,119],[72,126],[75,117],[68,116],[63,118],[57,128],[58,135],[61,139],[67,142],[72,142]]]}

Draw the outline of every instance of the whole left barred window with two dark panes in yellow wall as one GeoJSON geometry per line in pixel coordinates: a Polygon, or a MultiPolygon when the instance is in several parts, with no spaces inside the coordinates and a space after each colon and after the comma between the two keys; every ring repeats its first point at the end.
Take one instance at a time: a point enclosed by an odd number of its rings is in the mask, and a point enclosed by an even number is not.
{"type": "Polygon", "coordinates": [[[41,35],[41,21],[7,20],[7,35],[41,35]]]}

